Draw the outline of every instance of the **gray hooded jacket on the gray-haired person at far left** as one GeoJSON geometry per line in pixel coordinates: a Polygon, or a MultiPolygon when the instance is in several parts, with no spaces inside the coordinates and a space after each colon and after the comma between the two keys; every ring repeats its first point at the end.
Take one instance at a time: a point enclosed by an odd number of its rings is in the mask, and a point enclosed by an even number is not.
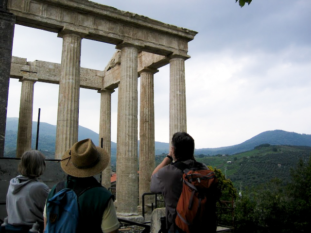
{"type": "Polygon", "coordinates": [[[43,222],[43,208],[50,192],[49,187],[37,178],[19,175],[10,181],[6,195],[8,223],[33,225],[43,222]]]}

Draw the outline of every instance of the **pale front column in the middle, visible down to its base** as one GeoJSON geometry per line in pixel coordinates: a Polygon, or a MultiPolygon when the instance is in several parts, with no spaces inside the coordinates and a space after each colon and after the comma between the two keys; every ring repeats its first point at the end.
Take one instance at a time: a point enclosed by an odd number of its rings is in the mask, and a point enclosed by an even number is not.
{"type": "Polygon", "coordinates": [[[117,212],[119,216],[131,216],[138,213],[138,49],[131,46],[119,48],[117,212]]]}

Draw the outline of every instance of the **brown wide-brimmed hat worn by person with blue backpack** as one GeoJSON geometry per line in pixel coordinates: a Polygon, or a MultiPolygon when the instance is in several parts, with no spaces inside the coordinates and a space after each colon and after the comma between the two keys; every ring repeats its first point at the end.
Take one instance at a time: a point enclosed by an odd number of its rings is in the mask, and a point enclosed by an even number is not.
{"type": "Polygon", "coordinates": [[[91,139],[84,139],[63,154],[60,164],[70,176],[90,177],[104,170],[109,161],[103,148],[96,147],[91,139]]]}

